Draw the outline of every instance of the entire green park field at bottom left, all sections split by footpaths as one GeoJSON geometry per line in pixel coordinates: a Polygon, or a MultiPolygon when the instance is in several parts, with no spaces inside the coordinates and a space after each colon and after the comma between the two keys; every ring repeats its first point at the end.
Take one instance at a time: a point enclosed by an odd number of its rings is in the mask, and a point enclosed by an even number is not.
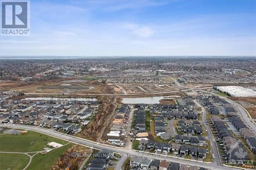
{"type": "MultiPolygon", "coordinates": [[[[3,134],[0,135],[0,151],[5,152],[36,152],[42,151],[44,148],[50,148],[48,142],[57,142],[65,144],[63,147],[53,149],[46,154],[30,154],[34,155],[27,169],[50,169],[59,159],[60,155],[72,147],[73,143],[65,140],[54,138],[38,132],[28,131],[24,135],[3,134]],[[33,141],[33,142],[32,142],[33,141]],[[68,143],[68,144],[67,144],[68,143]]],[[[23,169],[29,162],[29,157],[24,154],[5,153],[0,154],[1,169],[23,169]]]]}

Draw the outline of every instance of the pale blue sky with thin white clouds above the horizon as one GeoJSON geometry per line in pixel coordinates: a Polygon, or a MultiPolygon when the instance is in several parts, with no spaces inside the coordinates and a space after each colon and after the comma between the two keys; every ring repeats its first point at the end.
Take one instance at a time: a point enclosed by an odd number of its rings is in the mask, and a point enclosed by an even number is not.
{"type": "Polygon", "coordinates": [[[2,56],[256,56],[255,0],[30,1],[2,56]]]}

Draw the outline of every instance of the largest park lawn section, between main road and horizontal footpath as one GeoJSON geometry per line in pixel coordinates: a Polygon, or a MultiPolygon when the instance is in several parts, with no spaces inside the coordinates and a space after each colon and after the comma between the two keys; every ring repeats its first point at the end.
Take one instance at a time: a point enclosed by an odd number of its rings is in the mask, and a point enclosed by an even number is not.
{"type": "MultiPolygon", "coordinates": [[[[67,141],[41,133],[28,131],[24,135],[0,135],[0,151],[5,152],[34,152],[44,150],[48,142],[66,144],[67,141]],[[31,143],[33,141],[33,143],[31,143]],[[30,144],[31,143],[31,144],[30,144]]],[[[49,147],[49,146],[48,146],[49,147]]]]}

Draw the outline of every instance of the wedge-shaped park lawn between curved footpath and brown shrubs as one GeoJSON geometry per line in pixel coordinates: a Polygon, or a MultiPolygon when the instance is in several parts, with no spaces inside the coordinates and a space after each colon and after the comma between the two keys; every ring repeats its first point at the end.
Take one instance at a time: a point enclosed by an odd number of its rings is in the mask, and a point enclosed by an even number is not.
{"type": "Polygon", "coordinates": [[[71,148],[73,143],[69,143],[67,145],[64,145],[63,147],[60,147],[58,149],[54,149],[45,155],[43,154],[36,154],[32,162],[30,163],[27,170],[31,169],[50,169],[59,159],[60,155],[65,153],[69,148],[71,148]]]}

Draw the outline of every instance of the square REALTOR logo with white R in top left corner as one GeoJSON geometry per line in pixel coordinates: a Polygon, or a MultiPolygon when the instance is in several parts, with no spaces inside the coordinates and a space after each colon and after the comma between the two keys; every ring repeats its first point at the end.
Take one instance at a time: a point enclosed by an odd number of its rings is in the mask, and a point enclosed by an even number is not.
{"type": "Polygon", "coordinates": [[[29,1],[1,1],[1,35],[30,35],[29,1]]]}

